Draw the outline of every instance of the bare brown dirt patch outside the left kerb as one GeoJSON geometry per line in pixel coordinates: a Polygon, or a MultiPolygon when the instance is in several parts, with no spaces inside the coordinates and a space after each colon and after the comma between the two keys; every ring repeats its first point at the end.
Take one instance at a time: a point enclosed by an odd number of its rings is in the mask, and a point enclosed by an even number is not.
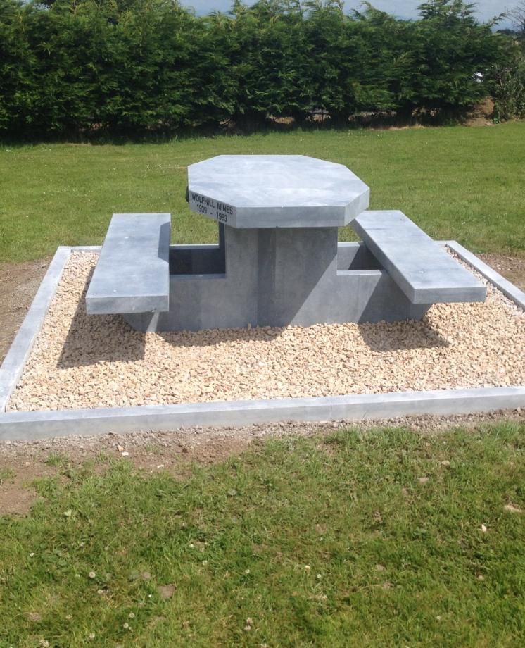
{"type": "Polygon", "coordinates": [[[0,263],[0,363],[23,322],[50,259],[0,263]]]}

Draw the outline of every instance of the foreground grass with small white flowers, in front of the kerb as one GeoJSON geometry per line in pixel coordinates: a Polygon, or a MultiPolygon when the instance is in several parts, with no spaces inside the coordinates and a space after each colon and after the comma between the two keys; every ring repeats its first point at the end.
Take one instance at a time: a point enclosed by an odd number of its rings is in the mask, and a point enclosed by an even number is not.
{"type": "Polygon", "coordinates": [[[40,480],[0,518],[0,646],[523,646],[524,432],[347,430],[184,480],[120,459],[40,480]]]}

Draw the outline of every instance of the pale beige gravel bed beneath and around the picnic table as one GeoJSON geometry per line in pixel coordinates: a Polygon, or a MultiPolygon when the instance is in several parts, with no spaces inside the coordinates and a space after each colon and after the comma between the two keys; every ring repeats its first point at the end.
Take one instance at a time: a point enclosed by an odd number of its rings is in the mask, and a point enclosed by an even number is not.
{"type": "Polygon", "coordinates": [[[86,315],[96,258],[72,253],[8,410],[525,385],[524,312],[483,279],[420,322],[144,334],[86,315]]]}

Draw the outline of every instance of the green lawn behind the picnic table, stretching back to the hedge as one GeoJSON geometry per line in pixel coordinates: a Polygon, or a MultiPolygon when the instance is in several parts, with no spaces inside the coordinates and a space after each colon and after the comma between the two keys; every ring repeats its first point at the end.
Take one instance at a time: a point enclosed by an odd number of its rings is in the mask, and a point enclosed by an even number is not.
{"type": "MultiPolygon", "coordinates": [[[[525,251],[525,123],[270,133],[168,144],[0,147],[0,261],[100,244],[116,211],[170,211],[174,242],[212,242],[184,201],[186,167],[217,154],[305,154],[346,164],[372,208],[398,208],[473,251],[525,251]]],[[[341,236],[351,237],[348,230],[341,236]]]]}

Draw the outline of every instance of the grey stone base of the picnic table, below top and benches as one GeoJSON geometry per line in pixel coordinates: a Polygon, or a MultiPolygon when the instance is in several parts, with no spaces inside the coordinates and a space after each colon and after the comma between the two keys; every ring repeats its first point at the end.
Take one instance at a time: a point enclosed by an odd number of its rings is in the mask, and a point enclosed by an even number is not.
{"type": "Polygon", "coordinates": [[[224,274],[171,275],[170,310],[127,313],[127,323],[147,332],[310,326],[421,319],[428,310],[363,244],[338,244],[337,228],[226,228],[224,245],[224,274]]]}

